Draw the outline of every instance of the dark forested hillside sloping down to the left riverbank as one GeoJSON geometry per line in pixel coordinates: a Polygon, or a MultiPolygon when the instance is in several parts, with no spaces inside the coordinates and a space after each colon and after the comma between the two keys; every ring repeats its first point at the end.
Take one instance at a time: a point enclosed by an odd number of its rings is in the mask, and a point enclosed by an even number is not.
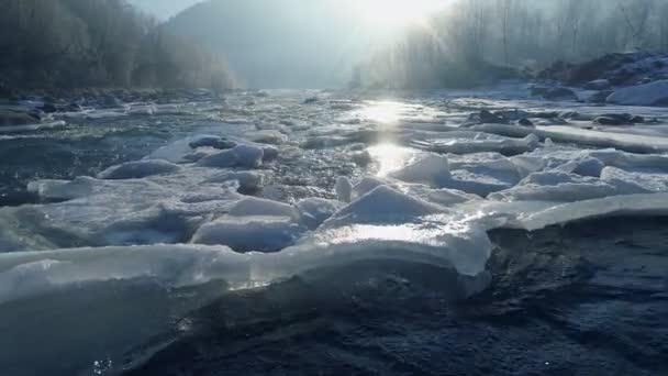
{"type": "Polygon", "coordinates": [[[216,55],[125,0],[4,0],[0,86],[230,87],[216,55]]]}

